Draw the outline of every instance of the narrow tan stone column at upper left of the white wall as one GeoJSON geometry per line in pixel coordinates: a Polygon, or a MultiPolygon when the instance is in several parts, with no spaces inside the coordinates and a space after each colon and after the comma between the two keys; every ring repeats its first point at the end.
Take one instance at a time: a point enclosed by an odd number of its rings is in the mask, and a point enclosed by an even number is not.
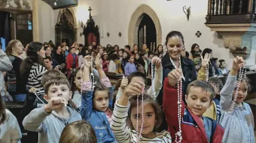
{"type": "Polygon", "coordinates": [[[38,0],[32,1],[33,41],[39,41],[38,0]]]}

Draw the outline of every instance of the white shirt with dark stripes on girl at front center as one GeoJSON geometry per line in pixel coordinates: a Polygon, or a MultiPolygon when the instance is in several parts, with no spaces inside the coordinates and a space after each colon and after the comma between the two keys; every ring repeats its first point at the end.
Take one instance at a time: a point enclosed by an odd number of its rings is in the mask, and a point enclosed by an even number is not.
{"type": "MultiPolygon", "coordinates": [[[[118,101],[118,100],[117,100],[118,101]]],[[[114,132],[114,137],[117,142],[130,143],[130,142],[169,142],[172,143],[172,138],[169,132],[164,130],[163,132],[154,132],[156,136],[154,138],[139,137],[136,130],[130,129],[126,126],[126,117],[128,116],[130,105],[121,106],[117,102],[114,106],[114,112],[111,120],[111,129],[114,132]]]]}

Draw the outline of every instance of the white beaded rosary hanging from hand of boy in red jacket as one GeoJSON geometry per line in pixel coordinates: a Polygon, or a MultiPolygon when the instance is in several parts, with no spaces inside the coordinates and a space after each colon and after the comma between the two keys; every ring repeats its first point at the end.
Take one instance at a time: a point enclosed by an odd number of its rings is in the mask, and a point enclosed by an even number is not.
{"type": "MultiPolygon", "coordinates": [[[[175,69],[177,69],[175,63],[172,61],[172,65],[175,69]]],[[[182,135],[181,135],[181,108],[182,108],[182,78],[184,79],[184,76],[182,75],[181,78],[178,79],[177,87],[178,87],[178,132],[175,133],[175,142],[181,143],[182,135]]]]}

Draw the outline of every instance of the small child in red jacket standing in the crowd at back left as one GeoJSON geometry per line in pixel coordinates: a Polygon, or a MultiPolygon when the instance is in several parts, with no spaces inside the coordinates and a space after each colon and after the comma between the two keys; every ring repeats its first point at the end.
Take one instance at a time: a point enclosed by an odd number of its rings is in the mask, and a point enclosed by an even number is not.
{"type": "Polygon", "coordinates": [[[70,53],[66,58],[66,68],[68,70],[68,79],[73,69],[78,67],[78,55],[75,54],[75,47],[71,47],[70,53]]]}

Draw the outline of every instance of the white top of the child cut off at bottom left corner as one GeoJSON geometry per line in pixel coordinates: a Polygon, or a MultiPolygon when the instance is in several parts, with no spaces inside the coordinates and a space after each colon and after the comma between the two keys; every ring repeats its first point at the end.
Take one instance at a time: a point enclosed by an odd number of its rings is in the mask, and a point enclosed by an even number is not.
{"type": "Polygon", "coordinates": [[[5,109],[5,112],[7,117],[5,123],[0,125],[0,142],[20,143],[22,135],[20,132],[19,123],[11,111],[5,109]]]}

